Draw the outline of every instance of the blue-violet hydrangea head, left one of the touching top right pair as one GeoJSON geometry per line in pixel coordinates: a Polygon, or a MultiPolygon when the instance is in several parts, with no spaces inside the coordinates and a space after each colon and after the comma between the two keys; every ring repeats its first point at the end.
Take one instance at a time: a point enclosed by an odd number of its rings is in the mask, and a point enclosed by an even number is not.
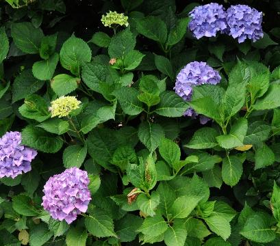
{"type": "Polygon", "coordinates": [[[209,3],[194,8],[189,13],[188,25],[195,38],[216,37],[218,31],[227,29],[225,8],[218,3],[209,3]]]}

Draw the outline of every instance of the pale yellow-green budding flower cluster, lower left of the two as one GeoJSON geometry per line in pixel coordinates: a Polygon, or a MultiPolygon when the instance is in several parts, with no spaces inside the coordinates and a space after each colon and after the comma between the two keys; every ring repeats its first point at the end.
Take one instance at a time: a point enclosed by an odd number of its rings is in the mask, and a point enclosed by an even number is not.
{"type": "Polygon", "coordinates": [[[60,98],[51,102],[51,117],[58,116],[59,118],[67,116],[74,109],[79,109],[81,102],[75,96],[60,96],[60,98]]]}

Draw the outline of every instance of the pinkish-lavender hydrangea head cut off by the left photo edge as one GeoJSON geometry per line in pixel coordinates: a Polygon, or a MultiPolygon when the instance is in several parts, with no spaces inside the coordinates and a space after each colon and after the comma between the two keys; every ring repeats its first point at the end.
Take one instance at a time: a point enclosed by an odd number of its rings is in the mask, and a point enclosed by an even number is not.
{"type": "Polygon", "coordinates": [[[0,178],[31,171],[31,161],[37,151],[21,145],[21,133],[8,132],[0,138],[0,178]]]}

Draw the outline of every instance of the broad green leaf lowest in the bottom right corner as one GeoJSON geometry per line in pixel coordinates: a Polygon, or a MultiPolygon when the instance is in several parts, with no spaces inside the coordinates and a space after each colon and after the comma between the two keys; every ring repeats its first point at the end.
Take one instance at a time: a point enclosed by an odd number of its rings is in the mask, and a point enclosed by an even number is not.
{"type": "Polygon", "coordinates": [[[270,216],[264,213],[250,215],[240,234],[257,243],[269,243],[275,240],[275,232],[270,229],[270,216]]]}

